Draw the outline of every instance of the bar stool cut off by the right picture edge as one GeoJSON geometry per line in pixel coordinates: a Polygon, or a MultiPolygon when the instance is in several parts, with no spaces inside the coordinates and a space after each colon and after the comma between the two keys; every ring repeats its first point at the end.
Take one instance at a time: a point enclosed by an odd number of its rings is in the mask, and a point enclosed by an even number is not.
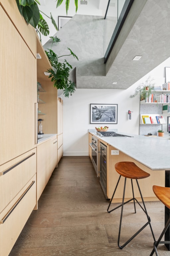
{"type": "MultiPolygon", "coordinates": [[[[155,193],[155,195],[157,196],[157,198],[167,207],[170,209],[170,188],[167,187],[160,187],[160,186],[153,186],[153,192],[155,193]]],[[[153,243],[153,250],[150,254],[150,256],[152,256],[155,252],[156,256],[158,256],[158,252],[157,252],[157,246],[159,244],[170,244],[170,241],[161,241],[163,235],[165,234],[166,230],[168,229],[170,225],[170,218],[168,219],[160,237],[158,238],[157,241],[155,241],[153,243]]]]}

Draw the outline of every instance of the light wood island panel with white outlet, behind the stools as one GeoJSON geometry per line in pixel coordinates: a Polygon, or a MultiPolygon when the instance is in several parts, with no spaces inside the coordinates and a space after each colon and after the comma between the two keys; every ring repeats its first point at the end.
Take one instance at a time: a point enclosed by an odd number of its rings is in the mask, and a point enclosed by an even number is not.
{"type": "MultiPolygon", "coordinates": [[[[117,150],[117,149],[112,146],[108,146],[108,150],[107,150],[107,164],[108,164],[107,165],[107,196],[108,198],[112,197],[113,191],[116,187],[118,178],[120,176],[115,170],[115,163],[121,162],[121,161],[131,161],[131,162],[134,162],[142,170],[150,173],[150,176],[148,178],[138,180],[144,200],[157,201],[158,199],[153,193],[152,186],[153,185],[165,186],[165,171],[163,170],[153,171],[148,167],[144,166],[143,164],[139,163],[138,161],[134,160],[133,158],[129,157],[128,155],[122,153],[121,151],[119,151],[119,155],[111,155],[111,150],[117,150]]],[[[114,196],[115,200],[113,202],[122,201],[124,179],[125,179],[124,177],[121,177],[120,184],[114,196]]],[[[133,181],[133,184],[134,184],[133,188],[134,188],[135,198],[138,198],[138,200],[141,201],[140,194],[139,194],[135,180],[133,181]]],[[[130,179],[127,179],[125,197],[126,199],[129,199],[132,197],[130,179]]]]}

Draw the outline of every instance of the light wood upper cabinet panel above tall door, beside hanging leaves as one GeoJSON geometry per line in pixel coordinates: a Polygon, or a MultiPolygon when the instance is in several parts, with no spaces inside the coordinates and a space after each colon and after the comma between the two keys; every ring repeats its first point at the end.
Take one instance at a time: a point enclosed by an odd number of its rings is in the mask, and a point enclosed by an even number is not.
{"type": "MultiPolygon", "coordinates": [[[[22,36],[22,38],[24,39],[24,41],[30,48],[31,52],[33,53],[34,57],[36,58],[36,34],[37,33],[36,33],[35,28],[33,28],[30,24],[27,25],[27,22],[25,21],[25,19],[23,18],[23,16],[20,14],[20,12],[18,10],[16,1],[1,0],[0,4],[4,8],[9,19],[11,19],[14,26],[17,28],[18,32],[20,33],[20,35],[22,36]]],[[[3,20],[3,22],[1,22],[1,25],[2,25],[2,27],[5,28],[6,33],[8,33],[8,35],[10,35],[11,39],[15,38],[15,37],[12,37],[12,35],[10,34],[10,31],[8,31],[9,27],[4,26],[4,24],[6,24],[6,23],[5,23],[4,19],[2,18],[2,16],[1,16],[1,20],[3,20]]],[[[4,36],[1,38],[4,39],[4,36]]],[[[8,36],[8,39],[9,39],[9,36],[8,36]]],[[[16,41],[16,38],[15,38],[15,40],[11,40],[11,41],[12,42],[16,41]]],[[[21,53],[19,53],[19,54],[21,54],[21,53]]],[[[24,58],[24,54],[21,54],[21,55],[24,58]]]]}

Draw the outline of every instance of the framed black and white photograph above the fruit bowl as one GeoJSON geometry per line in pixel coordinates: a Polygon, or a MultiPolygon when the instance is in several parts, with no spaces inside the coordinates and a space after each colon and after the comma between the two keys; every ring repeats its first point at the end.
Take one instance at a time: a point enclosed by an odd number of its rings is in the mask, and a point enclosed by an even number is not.
{"type": "Polygon", "coordinates": [[[118,104],[90,104],[91,124],[117,124],[118,104]]]}

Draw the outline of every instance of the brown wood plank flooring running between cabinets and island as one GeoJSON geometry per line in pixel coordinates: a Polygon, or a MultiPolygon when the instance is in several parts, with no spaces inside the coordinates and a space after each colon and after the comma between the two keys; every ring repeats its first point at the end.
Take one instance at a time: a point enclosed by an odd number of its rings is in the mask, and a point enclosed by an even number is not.
{"type": "MultiPolygon", "coordinates": [[[[62,157],[9,256],[149,256],[149,226],[119,249],[121,209],[108,213],[108,204],[90,158],[62,157]]],[[[164,227],[164,206],[158,201],[146,202],[146,207],[157,239],[164,227]]],[[[136,214],[132,203],[124,208],[121,244],[147,221],[139,206],[136,214]]],[[[158,253],[170,256],[164,245],[158,253]]]]}

